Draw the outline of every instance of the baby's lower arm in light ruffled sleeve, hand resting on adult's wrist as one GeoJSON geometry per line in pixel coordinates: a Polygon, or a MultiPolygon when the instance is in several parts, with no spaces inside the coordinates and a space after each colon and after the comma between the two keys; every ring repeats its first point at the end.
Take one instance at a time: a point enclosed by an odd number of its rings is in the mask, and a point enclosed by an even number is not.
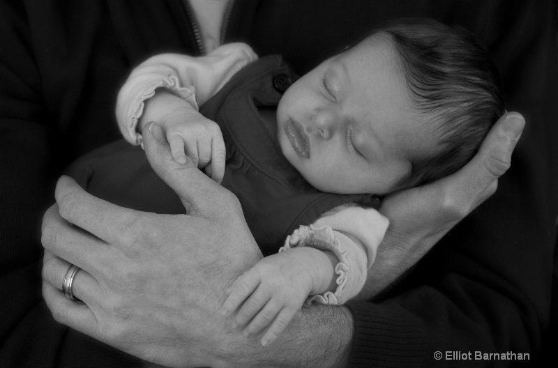
{"type": "Polygon", "coordinates": [[[241,309],[236,324],[252,318],[246,335],[273,324],[262,338],[270,344],[305,302],[343,304],[361,291],[389,225],[372,208],[354,204],[324,213],[287,238],[278,254],[259,261],[227,290],[225,315],[241,309]],[[248,298],[249,297],[249,298],[248,298]]]}

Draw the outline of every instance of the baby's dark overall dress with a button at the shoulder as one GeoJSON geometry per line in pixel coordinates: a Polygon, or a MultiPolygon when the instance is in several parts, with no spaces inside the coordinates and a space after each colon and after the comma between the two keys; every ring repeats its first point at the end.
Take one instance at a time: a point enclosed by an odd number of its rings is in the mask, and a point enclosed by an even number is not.
{"type": "MultiPolygon", "coordinates": [[[[238,197],[264,255],[277,252],[289,233],[327,210],[370,197],[320,192],[282,155],[275,121],[266,123],[259,109],[275,112],[294,79],[280,56],[268,56],[243,68],[200,108],[223,132],[227,161],[222,185],[238,197]]],[[[120,206],[185,213],[176,194],[149,166],[142,148],[124,141],[84,156],[73,164],[70,176],[91,194],[120,206]]]]}

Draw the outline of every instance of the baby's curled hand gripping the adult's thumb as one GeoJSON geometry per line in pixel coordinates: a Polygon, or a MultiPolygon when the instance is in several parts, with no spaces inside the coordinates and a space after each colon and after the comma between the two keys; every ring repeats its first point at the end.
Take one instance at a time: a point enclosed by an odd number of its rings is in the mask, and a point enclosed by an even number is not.
{"type": "Polygon", "coordinates": [[[186,163],[186,155],[217,183],[225,174],[225,142],[219,125],[199,112],[177,111],[161,121],[172,157],[186,163]],[[209,165],[209,166],[208,166],[209,165]]]}

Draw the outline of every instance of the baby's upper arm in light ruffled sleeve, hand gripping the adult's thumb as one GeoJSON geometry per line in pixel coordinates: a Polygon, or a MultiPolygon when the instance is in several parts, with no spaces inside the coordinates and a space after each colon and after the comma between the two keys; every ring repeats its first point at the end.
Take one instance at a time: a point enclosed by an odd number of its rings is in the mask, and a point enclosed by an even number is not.
{"type": "Polygon", "coordinates": [[[161,54],[144,61],[119,92],[116,119],[123,136],[132,144],[141,144],[142,123],[158,121],[179,162],[186,160],[185,144],[193,160],[224,153],[224,145],[219,143],[223,141],[220,130],[197,113],[198,103],[202,105],[256,59],[248,45],[234,43],[218,47],[207,56],[161,54]],[[185,121],[193,126],[184,126],[185,121]],[[211,144],[213,139],[218,142],[216,149],[211,144]]]}

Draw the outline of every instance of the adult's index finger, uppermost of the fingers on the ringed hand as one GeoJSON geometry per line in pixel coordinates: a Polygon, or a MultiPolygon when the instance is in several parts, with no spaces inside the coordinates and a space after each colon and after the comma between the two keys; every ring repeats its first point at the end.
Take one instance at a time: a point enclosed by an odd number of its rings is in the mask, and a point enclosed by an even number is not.
{"type": "MultiPolygon", "coordinates": [[[[89,231],[107,243],[113,243],[114,240],[121,238],[123,229],[128,228],[125,225],[134,218],[135,211],[94,197],[69,176],[59,178],[54,197],[58,204],[58,212],[64,220],[89,231]]],[[[52,223],[50,220],[56,220],[52,208],[43,217],[43,236],[45,233],[47,236],[57,235],[45,231],[52,223]]]]}

